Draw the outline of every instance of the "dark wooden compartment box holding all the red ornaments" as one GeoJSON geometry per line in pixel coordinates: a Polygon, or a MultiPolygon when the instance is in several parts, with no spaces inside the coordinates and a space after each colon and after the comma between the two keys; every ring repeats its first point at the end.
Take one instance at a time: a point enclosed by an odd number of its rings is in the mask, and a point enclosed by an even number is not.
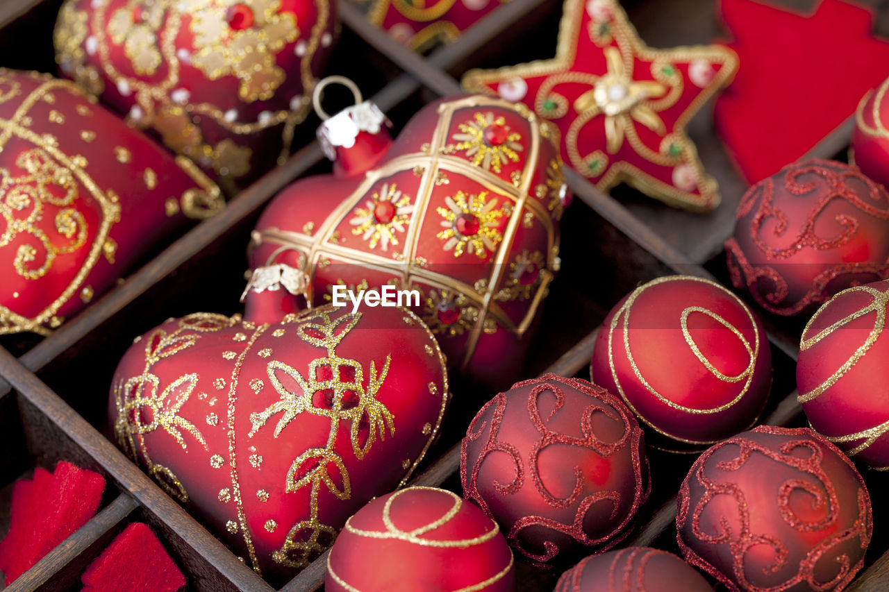
{"type": "MultiPolygon", "coordinates": [[[[775,0],[808,9],[814,0],[775,0]]],[[[52,27],[60,0],[0,0],[0,66],[54,72],[52,27]]],[[[720,35],[713,0],[625,0],[630,20],[650,45],[708,43],[720,35]]],[[[889,36],[889,6],[877,32],[889,36]]],[[[426,56],[405,50],[369,26],[351,0],[340,0],[340,42],[327,74],[350,76],[365,96],[388,112],[397,128],[438,96],[458,93],[456,82],[472,67],[509,65],[549,58],[555,52],[561,0],[510,0],[457,42],[426,56]]],[[[232,314],[247,268],[245,247],[263,204],[288,183],[324,171],[312,119],[300,126],[294,155],[232,199],[219,215],[197,225],[96,300],[52,336],[0,340],[0,534],[9,527],[12,483],[35,466],[71,460],[108,479],[100,513],[63,541],[11,590],[79,589],[80,574],[126,524],[145,521],[164,541],[195,590],[271,590],[219,540],[164,493],[108,439],[108,385],[132,338],[170,316],[210,311],[232,314]]],[[[810,156],[845,154],[852,121],[813,148],[810,156]]],[[[525,376],[556,372],[589,378],[596,328],[606,312],[637,284],[684,273],[727,283],[722,244],[746,186],[734,172],[704,109],[689,129],[708,172],[717,177],[723,204],[709,215],[671,210],[618,188],[606,196],[568,172],[575,195],[562,228],[562,270],[543,308],[539,337],[525,376]]],[[[754,307],[755,308],[755,307],[754,307]]],[[[757,311],[760,312],[760,311],[757,311]]],[[[772,395],[760,422],[805,425],[797,404],[795,362],[800,321],[760,312],[775,365],[772,395]]],[[[460,438],[476,409],[494,393],[455,380],[455,404],[443,434],[412,484],[461,492],[460,438]]],[[[676,492],[693,455],[649,450],[653,492],[641,508],[625,545],[653,545],[677,552],[676,492]]],[[[889,509],[877,503],[889,492],[889,474],[863,471],[874,504],[874,538],[865,569],[850,589],[889,589],[889,509]]],[[[324,583],[326,556],[281,590],[315,590],[324,583]]],[[[558,572],[517,564],[519,590],[549,590],[558,572]]]]}

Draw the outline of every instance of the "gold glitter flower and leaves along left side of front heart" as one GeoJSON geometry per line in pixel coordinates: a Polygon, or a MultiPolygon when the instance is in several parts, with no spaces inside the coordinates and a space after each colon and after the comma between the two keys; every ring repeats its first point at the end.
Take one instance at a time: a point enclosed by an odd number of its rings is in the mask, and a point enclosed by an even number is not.
{"type": "Polygon", "coordinates": [[[117,412],[114,431],[117,442],[132,460],[145,465],[166,492],[181,501],[188,501],[188,492],[169,468],[156,464],[148,455],[145,436],[157,428],[164,431],[188,452],[185,431],[207,449],[207,443],[194,424],[180,417],[179,412],[194,391],[198,376],[188,373],[173,380],[157,394],[160,379],[152,368],[162,360],[193,347],[202,332],[215,332],[236,324],[238,317],[196,313],[181,318],[173,332],[156,329],[145,337],[145,366],[142,373],[129,379],[117,380],[113,388],[117,412]]]}

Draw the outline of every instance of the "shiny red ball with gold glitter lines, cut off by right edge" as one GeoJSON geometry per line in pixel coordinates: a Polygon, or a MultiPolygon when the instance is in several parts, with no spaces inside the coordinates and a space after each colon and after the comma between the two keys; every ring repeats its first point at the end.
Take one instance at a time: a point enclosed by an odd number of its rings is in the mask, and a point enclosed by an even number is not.
{"type": "Polygon", "coordinates": [[[805,326],[799,401],[812,427],[850,456],[889,468],[889,281],[838,293],[805,326]]]}

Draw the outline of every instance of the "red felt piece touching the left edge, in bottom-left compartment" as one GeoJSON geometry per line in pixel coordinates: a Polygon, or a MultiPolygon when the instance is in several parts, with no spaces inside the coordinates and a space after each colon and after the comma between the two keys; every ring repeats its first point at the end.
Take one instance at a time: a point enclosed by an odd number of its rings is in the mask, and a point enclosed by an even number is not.
{"type": "Polygon", "coordinates": [[[33,480],[16,483],[10,529],[0,541],[0,570],[6,583],[95,516],[103,491],[102,476],[64,461],[53,473],[37,468],[33,480]]]}

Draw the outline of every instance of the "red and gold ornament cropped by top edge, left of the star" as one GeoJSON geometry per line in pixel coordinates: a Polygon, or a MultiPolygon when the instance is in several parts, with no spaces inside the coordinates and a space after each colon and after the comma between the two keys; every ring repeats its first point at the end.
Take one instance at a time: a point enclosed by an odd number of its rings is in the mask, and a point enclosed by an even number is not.
{"type": "Polygon", "coordinates": [[[463,31],[509,0],[376,0],[368,19],[398,42],[418,52],[450,43],[463,31]]]}

